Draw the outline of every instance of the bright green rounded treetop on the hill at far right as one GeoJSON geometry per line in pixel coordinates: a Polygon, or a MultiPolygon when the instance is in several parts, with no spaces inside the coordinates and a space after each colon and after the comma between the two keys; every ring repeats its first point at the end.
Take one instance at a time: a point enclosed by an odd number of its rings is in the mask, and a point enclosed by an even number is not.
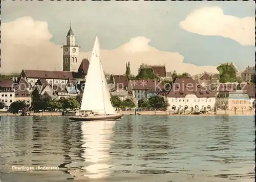
{"type": "Polygon", "coordinates": [[[236,70],[232,65],[221,64],[217,67],[217,70],[220,72],[221,83],[237,81],[236,70]]]}

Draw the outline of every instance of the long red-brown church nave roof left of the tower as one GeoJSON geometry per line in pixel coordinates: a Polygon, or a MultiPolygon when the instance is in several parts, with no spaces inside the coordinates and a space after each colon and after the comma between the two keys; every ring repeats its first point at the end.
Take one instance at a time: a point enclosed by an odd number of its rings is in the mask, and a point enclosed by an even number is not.
{"type": "Polygon", "coordinates": [[[27,78],[44,78],[44,79],[74,79],[73,72],[60,71],[42,71],[42,70],[23,70],[27,78]]]}

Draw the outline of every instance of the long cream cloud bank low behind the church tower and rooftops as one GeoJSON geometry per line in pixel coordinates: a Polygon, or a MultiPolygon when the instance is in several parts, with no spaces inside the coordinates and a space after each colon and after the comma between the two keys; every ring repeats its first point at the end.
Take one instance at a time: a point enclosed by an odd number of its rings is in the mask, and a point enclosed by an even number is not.
{"type": "MultiPolygon", "coordinates": [[[[31,17],[18,18],[2,24],[2,66],[1,73],[20,73],[22,69],[62,70],[62,48],[50,41],[52,35],[48,31],[47,22],[34,21],[31,17]]],[[[68,30],[67,30],[68,31],[68,30]]],[[[66,37],[63,37],[65,41],[66,37]]],[[[100,39],[100,35],[99,35],[100,39]]],[[[79,41],[79,40],[77,40],[79,41]]],[[[218,73],[216,66],[196,66],[183,62],[179,53],[163,52],[148,45],[150,39],[140,36],[132,38],[114,50],[101,50],[101,58],[106,73],[125,73],[125,62],[131,62],[132,74],[138,73],[143,63],[166,65],[166,70],[191,75],[202,73],[218,73]]],[[[80,52],[90,59],[91,52],[80,52]]]]}

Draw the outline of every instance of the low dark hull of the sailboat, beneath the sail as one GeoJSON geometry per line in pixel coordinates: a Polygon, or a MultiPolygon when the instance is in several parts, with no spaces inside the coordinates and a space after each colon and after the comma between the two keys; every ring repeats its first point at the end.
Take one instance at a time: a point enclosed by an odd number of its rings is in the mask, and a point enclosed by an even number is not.
{"type": "Polygon", "coordinates": [[[70,117],[73,121],[114,121],[122,118],[123,115],[96,115],[88,117],[70,117]]]}

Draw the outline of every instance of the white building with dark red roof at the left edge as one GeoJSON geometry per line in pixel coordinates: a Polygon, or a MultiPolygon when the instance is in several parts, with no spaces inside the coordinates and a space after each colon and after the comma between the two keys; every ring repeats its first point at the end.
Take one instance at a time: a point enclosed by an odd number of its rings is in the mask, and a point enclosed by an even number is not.
{"type": "Polygon", "coordinates": [[[1,79],[0,90],[0,101],[5,104],[4,109],[9,109],[11,103],[14,102],[14,80],[1,79]]]}

